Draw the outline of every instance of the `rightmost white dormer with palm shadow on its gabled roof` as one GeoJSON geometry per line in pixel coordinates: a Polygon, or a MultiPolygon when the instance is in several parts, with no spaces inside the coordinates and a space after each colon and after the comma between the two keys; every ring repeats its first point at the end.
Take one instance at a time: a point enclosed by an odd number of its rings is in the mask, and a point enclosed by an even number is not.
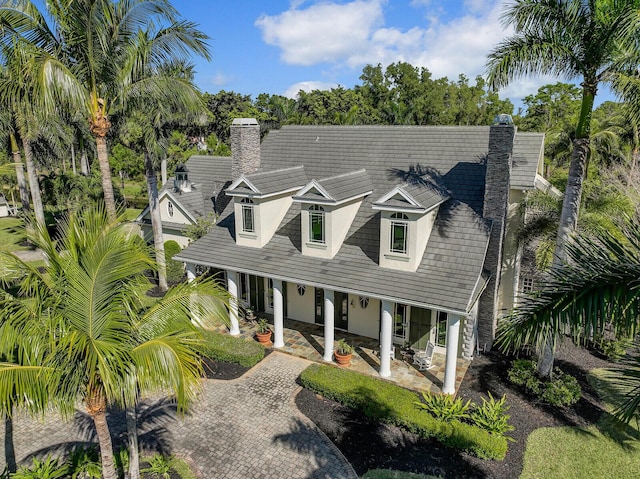
{"type": "Polygon", "coordinates": [[[372,204],[380,213],[380,266],[415,271],[424,256],[433,224],[450,194],[422,181],[397,185],[372,204]]]}

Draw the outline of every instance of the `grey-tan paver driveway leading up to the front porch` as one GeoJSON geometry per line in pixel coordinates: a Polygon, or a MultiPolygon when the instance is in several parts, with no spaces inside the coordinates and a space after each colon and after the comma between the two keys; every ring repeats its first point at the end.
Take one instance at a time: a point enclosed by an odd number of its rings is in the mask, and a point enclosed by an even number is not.
{"type": "MultiPolygon", "coordinates": [[[[232,381],[207,380],[188,416],[162,418],[141,410],[141,443],[158,444],[190,459],[202,478],[357,478],[340,451],[296,408],[295,379],[309,361],[271,353],[232,381]],[[145,433],[146,432],[146,433],[145,433]]],[[[121,433],[120,421],[113,425],[121,433]]],[[[4,434],[4,426],[0,426],[4,434]]],[[[18,461],[44,450],[91,441],[86,419],[44,423],[20,417],[14,424],[18,461]],[[80,427],[78,427],[80,425],[80,427]]],[[[0,457],[0,470],[4,467],[0,457]]]]}

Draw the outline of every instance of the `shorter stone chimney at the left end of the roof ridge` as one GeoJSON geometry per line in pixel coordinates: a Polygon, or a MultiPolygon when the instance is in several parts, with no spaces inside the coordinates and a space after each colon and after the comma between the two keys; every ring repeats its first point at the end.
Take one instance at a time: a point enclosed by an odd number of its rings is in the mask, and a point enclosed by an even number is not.
{"type": "Polygon", "coordinates": [[[231,124],[231,174],[237,180],[260,168],[260,125],[255,118],[236,118],[231,124]]]}

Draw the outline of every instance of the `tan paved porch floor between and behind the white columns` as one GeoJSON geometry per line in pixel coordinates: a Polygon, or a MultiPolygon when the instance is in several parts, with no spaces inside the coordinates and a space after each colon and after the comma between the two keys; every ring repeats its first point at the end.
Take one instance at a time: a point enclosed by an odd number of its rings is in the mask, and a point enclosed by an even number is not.
{"type": "MultiPolygon", "coordinates": [[[[273,330],[273,318],[270,315],[263,316],[267,317],[273,330]]],[[[227,328],[221,328],[221,330],[224,332],[228,331],[227,328]]],[[[254,321],[241,321],[241,336],[253,340],[255,330],[256,323],[254,321]]],[[[277,351],[318,363],[326,363],[323,359],[324,327],[322,325],[285,318],[283,336],[284,346],[277,348],[277,351]]],[[[353,359],[351,360],[349,369],[369,376],[380,377],[379,340],[336,330],[335,339],[341,338],[345,338],[347,342],[354,347],[353,359]]],[[[396,346],[395,351],[395,359],[391,360],[391,376],[384,378],[385,380],[415,391],[442,392],[445,373],[444,354],[434,354],[433,367],[428,370],[419,371],[417,366],[412,364],[410,360],[403,360],[399,347],[396,346]]],[[[460,383],[468,367],[469,361],[458,358],[456,364],[456,392],[460,387],[460,383]]]]}

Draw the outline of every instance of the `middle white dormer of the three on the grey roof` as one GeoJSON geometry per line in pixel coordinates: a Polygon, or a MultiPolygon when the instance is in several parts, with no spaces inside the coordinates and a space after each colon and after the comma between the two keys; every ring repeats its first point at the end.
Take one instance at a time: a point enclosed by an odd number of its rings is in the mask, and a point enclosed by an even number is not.
{"type": "Polygon", "coordinates": [[[333,258],[340,250],[362,201],[373,191],[366,170],[313,179],[293,201],[300,203],[302,254],[333,258]]]}

